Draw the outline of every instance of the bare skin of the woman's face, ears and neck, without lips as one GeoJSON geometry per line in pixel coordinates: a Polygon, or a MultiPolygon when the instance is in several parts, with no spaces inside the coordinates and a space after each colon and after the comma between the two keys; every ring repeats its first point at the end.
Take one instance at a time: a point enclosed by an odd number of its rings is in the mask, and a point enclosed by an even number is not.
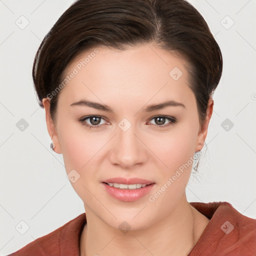
{"type": "MultiPolygon", "coordinates": [[[[195,96],[188,86],[186,61],[154,44],[113,50],[103,47],[59,92],[56,120],[49,114],[49,100],[43,99],[47,129],[55,152],[62,153],[66,172],[75,169],[80,177],[71,182],[84,202],[87,224],[80,239],[80,255],[187,255],[209,219],[186,199],[185,187],[192,164],[156,198],[159,190],[179,166],[199,151],[207,135],[213,100],[199,125],[195,96]],[[182,75],[174,80],[169,72],[178,67],[182,75]],[[113,113],[88,106],[70,106],[91,100],[113,109],[113,113]],[[167,106],[143,111],[149,104],[165,100],[185,107],[167,106]],[[89,129],[77,119],[100,115],[98,128],[89,129]],[[154,116],[173,116],[159,127],[154,116]],[[127,131],[118,123],[127,118],[127,131]],[[110,177],[139,177],[155,182],[149,194],[133,202],[112,198],[101,181],[110,177]],[[118,226],[126,221],[130,230],[118,226]],[[171,246],[170,246],[171,245],[171,246]],[[97,253],[97,254],[96,254],[97,253]]],[[[70,73],[88,52],[66,68],[70,73]]],[[[92,126],[89,118],[88,125],[92,126]]]]}

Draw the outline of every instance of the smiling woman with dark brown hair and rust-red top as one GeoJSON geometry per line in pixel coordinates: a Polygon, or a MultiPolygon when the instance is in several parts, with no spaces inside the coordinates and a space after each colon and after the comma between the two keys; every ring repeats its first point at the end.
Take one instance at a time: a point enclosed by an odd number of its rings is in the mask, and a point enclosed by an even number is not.
{"type": "Polygon", "coordinates": [[[254,255],[256,220],[188,202],[222,56],[184,0],[78,0],[33,81],[80,214],[10,255],[254,255]]]}

